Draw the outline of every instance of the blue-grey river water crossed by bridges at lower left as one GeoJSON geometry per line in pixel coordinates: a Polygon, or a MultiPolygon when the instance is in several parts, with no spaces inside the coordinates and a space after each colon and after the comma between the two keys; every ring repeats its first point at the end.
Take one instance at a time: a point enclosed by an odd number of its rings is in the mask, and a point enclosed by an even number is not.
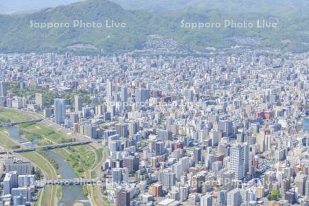
{"type": "MultiPolygon", "coordinates": [[[[5,127],[5,129],[10,134],[10,138],[18,141],[26,147],[34,146],[38,141],[38,139],[34,138],[34,141],[26,142],[19,134],[19,128],[17,126],[9,126],[5,127]]],[[[56,154],[52,150],[49,150],[47,154],[58,163],[59,172],[62,179],[73,179],[78,177],[71,168],[71,165],[69,165],[69,163],[67,163],[67,161],[65,161],[65,159],[63,159],[60,155],[56,154]]],[[[58,205],[73,206],[77,202],[82,203],[84,206],[90,206],[87,196],[84,196],[82,193],[82,186],[62,186],[62,198],[58,205]]]]}

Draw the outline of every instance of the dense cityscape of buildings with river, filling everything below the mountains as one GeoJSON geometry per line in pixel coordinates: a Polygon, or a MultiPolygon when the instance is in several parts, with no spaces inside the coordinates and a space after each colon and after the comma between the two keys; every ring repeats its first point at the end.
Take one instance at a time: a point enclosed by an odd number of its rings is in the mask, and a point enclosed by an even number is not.
{"type": "Polygon", "coordinates": [[[164,44],[1,54],[0,205],[309,205],[309,53],[164,44]]]}

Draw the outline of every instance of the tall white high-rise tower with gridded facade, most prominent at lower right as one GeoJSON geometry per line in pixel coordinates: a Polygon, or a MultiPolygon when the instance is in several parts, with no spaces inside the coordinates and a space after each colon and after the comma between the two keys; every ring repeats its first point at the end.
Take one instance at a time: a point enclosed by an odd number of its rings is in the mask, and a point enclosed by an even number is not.
{"type": "Polygon", "coordinates": [[[236,144],[231,147],[230,170],[235,172],[236,179],[244,178],[244,146],[236,144]]]}

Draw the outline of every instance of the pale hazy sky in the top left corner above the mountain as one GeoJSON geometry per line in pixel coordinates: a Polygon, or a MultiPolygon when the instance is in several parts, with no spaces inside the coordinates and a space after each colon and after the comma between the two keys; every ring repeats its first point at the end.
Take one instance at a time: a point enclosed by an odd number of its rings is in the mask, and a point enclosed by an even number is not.
{"type": "Polygon", "coordinates": [[[25,12],[42,8],[66,5],[82,0],[0,0],[0,13],[25,12]]]}

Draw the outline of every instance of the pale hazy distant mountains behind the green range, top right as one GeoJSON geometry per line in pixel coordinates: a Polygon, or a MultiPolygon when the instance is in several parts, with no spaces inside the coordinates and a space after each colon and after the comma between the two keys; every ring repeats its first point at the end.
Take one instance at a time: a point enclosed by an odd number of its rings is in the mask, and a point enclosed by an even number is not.
{"type": "Polygon", "coordinates": [[[249,12],[279,15],[285,12],[302,10],[308,12],[307,0],[111,0],[128,10],[167,11],[187,10],[198,12],[219,10],[231,14],[249,12]]]}

